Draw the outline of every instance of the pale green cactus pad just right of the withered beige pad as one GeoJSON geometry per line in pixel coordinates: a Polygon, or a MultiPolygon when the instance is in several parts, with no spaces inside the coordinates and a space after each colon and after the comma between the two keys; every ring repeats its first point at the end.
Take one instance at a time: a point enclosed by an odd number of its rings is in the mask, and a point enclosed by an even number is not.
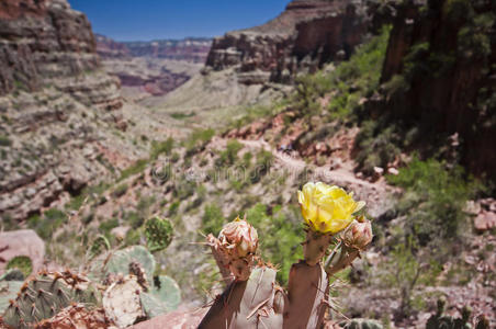
{"type": "Polygon", "coordinates": [[[149,318],[174,310],[180,303],[178,283],[166,275],[158,276],[148,293],[142,294],[142,305],[149,318]]]}

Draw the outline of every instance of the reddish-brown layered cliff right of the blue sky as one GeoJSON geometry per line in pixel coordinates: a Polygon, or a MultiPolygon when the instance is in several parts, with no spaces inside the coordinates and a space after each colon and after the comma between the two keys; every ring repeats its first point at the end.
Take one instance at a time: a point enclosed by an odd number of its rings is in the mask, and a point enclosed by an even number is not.
{"type": "Polygon", "coordinates": [[[237,67],[245,83],[289,82],[350,56],[368,30],[362,1],[294,0],[267,24],[214,39],[206,67],[237,67]]]}

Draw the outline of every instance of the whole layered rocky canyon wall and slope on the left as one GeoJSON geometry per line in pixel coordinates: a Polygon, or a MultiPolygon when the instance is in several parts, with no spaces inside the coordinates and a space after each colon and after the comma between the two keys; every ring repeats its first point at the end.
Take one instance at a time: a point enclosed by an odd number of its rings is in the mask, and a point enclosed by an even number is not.
{"type": "Polygon", "coordinates": [[[150,127],[129,126],[119,79],[102,70],[87,18],[67,1],[2,1],[0,26],[0,217],[9,225],[128,166],[146,151],[133,132],[150,127]]]}

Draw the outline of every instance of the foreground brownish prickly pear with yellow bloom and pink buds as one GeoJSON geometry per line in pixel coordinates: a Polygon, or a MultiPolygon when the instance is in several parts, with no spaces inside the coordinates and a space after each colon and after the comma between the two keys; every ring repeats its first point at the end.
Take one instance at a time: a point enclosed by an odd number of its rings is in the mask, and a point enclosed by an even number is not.
{"type": "MultiPolygon", "coordinates": [[[[246,218],[226,224],[218,238],[208,235],[206,245],[229,285],[199,328],[320,328],[326,310],[334,308],[329,276],[349,266],[373,238],[370,220],[359,215],[364,203],[352,196],[322,182],[298,191],[306,239],[304,259],[291,268],[288,294],[278,287],[273,269],[255,266],[255,260],[263,261],[256,253],[258,234],[246,218]],[[331,245],[336,247],[323,262],[331,245]]],[[[360,322],[349,328],[377,327],[360,322]]]]}

